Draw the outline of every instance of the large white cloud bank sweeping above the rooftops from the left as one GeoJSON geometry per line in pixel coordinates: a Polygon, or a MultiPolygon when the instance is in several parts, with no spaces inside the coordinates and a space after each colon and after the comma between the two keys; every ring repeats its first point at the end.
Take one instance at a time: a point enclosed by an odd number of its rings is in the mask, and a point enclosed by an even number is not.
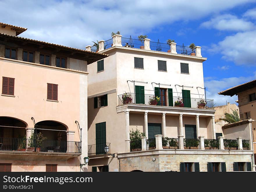
{"type": "MultiPolygon", "coordinates": [[[[197,20],[253,0],[0,1],[1,22],[28,28],[20,36],[84,48],[111,32],[135,38],[174,21],[197,20]]],[[[150,38],[150,37],[149,37],[150,38]]]]}

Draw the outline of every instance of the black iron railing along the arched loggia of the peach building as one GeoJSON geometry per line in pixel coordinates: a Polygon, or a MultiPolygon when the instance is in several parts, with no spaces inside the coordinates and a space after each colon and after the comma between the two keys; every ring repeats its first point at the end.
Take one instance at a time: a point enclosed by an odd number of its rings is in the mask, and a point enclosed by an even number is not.
{"type": "Polygon", "coordinates": [[[0,151],[81,153],[81,142],[1,137],[0,151]]]}

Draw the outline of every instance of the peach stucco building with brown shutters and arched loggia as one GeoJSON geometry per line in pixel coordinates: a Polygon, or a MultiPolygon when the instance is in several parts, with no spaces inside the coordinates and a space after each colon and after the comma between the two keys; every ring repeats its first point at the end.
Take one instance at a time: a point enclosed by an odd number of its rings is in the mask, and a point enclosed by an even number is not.
{"type": "Polygon", "coordinates": [[[87,171],[87,65],[107,55],[25,30],[0,23],[0,171],[87,171]]]}

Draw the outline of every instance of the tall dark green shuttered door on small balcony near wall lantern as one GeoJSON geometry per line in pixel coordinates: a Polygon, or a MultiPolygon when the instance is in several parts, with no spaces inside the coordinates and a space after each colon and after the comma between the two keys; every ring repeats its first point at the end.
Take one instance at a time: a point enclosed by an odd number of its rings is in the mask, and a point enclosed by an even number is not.
{"type": "Polygon", "coordinates": [[[106,146],[106,122],[96,123],[96,155],[104,154],[106,146]]]}

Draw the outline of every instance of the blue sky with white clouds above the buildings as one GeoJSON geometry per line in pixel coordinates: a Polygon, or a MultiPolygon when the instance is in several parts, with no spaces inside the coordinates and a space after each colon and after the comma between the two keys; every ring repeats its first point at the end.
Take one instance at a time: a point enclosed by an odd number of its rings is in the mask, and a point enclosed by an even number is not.
{"type": "Polygon", "coordinates": [[[256,78],[256,0],[10,1],[0,0],[3,23],[28,28],[20,36],[84,49],[111,32],[136,39],[202,47],[207,98],[256,78]]]}

